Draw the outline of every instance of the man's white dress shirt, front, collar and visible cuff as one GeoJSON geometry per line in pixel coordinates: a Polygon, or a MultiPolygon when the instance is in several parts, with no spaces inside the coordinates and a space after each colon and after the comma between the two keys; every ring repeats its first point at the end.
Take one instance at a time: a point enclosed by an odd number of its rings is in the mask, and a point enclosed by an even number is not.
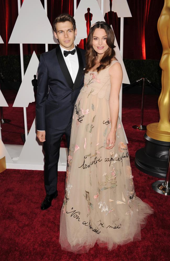
{"type": "MultiPolygon", "coordinates": [[[[71,79],[74,83],[75,80],[76,80],[76,76],[77,76],[78,68],[79,68],[77,52],[75,52],[74,55],[69,54],[65,57],[64,51],[68,51],[68,50],[61,47],[61,45],[60,45],[60,48],[61,48],[61,52],[63,54],[64,61],[66,63],[66,66],[67,66],[69,73],[71,75],[71,79]]],[[[75,49],[75,46],[72,50],[74,50],[74,49],[75,49]]],[[[69,51],[72,51],[72,50],[69,50],[69,51]]],[[[37,131],[39,131],[39,130],[37,130],[37,131]]]]}

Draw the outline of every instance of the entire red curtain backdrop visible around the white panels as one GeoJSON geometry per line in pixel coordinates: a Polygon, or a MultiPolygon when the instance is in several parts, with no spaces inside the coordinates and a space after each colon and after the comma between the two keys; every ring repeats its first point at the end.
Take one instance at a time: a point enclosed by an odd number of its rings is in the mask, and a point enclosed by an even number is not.
{"type": "MultiPolygon", "coordinates": [[[[21,5],[23,1],[24,0],[21,0],[21,5]]],[[[79,2],[80,0],[77,0],[77,5],[79,2]]],[[[110,0],[110,7],[111,2],[112,0],[110,0]]],[[[132,17],[124,18],[123,57],[129,59],[159,60],[162,55],[162,45],[157,32],[157,20],[163,8],[164,0],[127,0],[127,2],[132,17]]],[[[41,0],[41,3],[44,6],[44,0],[41,0]]],[[[47,0],[47,7],[48,18],[51,25],[53,24],[54,18],[61,13],[74,14],[73,0],[47,0]]],[[[89,31],[92,15],[93,14],[86,10],[84,19],[87,21],[87,32],[89,31]]],[[[20,53],[19,44],[8,44],[17,17],[17,0],[1,0],[0,35],[4,44],[0,44],[0,55],[20,53]]],[[[112,11],[106,13],[104,18],[107,23],[112,25],[119,45],[120,18],[112,11]]],[[[78,46],[85,49],[86,39],[82,39],[78,46]]],[[[49,44],[49,50],[53,48],[55,48],[55,45],[49,44]]],[[[32,54],[34,50],[36,54],[45,52],[45,44],[23,44],[24,54],[32,54]]]]}

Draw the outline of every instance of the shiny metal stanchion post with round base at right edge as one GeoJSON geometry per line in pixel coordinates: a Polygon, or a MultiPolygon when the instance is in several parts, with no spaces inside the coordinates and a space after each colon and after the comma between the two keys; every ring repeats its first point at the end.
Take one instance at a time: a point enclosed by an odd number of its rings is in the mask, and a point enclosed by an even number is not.
{"type": "Polygon", "coordinates": [[[168,166],[165,180],[158,180],[152,184],[152,188],[163,195],[170,195],[170,147],[169,147],[169,157],[168,157],[168,166]]]}

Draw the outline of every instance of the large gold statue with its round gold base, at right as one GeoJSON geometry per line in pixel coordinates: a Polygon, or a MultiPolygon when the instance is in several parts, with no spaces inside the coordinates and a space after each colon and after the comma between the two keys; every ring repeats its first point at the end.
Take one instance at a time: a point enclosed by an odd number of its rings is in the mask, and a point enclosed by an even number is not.
{"type": "Polygon", "coordinates": [[[152,139],[170,142],[170,0],[165,0],[157,29],[163,47],[160,61],[162,90],[158,99],[160,121],[149,124],[146,134],[152,139]]]}

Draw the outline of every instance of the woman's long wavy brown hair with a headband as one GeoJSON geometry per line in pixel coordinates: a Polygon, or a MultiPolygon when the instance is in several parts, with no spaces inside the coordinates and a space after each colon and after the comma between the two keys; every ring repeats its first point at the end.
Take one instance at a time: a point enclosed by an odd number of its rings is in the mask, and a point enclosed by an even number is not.
{"type": "Polygon", "coordinates": [[[107,35],[106,43],[109,46],[109,48],[105,51],[102,59],[100,60],[100,65],[97,68],[97,72],[100,72],[100,70],[103,70],[106,68],[106,66],[111,64],[112,59],[115,57],[115,50],[116,47],[114,45],[115,41],[115,35],[110,27],[106,22],[97,22],[95,23],[89,31],[89,35],[87,37],[87,44],[86,44],[86,68],[84,70],[84,73],[88,73],[88,71],[93,68],[96,64],[96,56],[97,52],[93,49],[92,43],[93,43],[93,34],[96,28],[104,29],[107,35]]]}

